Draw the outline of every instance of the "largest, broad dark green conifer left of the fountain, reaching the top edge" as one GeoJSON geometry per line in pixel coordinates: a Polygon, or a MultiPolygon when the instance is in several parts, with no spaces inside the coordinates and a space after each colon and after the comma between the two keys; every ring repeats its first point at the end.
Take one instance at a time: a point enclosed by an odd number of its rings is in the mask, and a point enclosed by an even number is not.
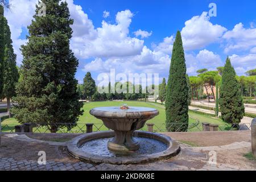
{"type": "Polygon", "coordinates": [[[42,0],[46,16],[39,16],[41,7],[28,27],[28,42],[22,46],[22,79],[17,86],[17,105],[12,110],[20,123],[42,123],[52,133],[68,125],[76,126],[82,103],[76,92],[75,73],[79,61],[69,48],[73,19],[67,2],[42,0]],[[44,123],[44,124],[43,124],[44,123]]]}

